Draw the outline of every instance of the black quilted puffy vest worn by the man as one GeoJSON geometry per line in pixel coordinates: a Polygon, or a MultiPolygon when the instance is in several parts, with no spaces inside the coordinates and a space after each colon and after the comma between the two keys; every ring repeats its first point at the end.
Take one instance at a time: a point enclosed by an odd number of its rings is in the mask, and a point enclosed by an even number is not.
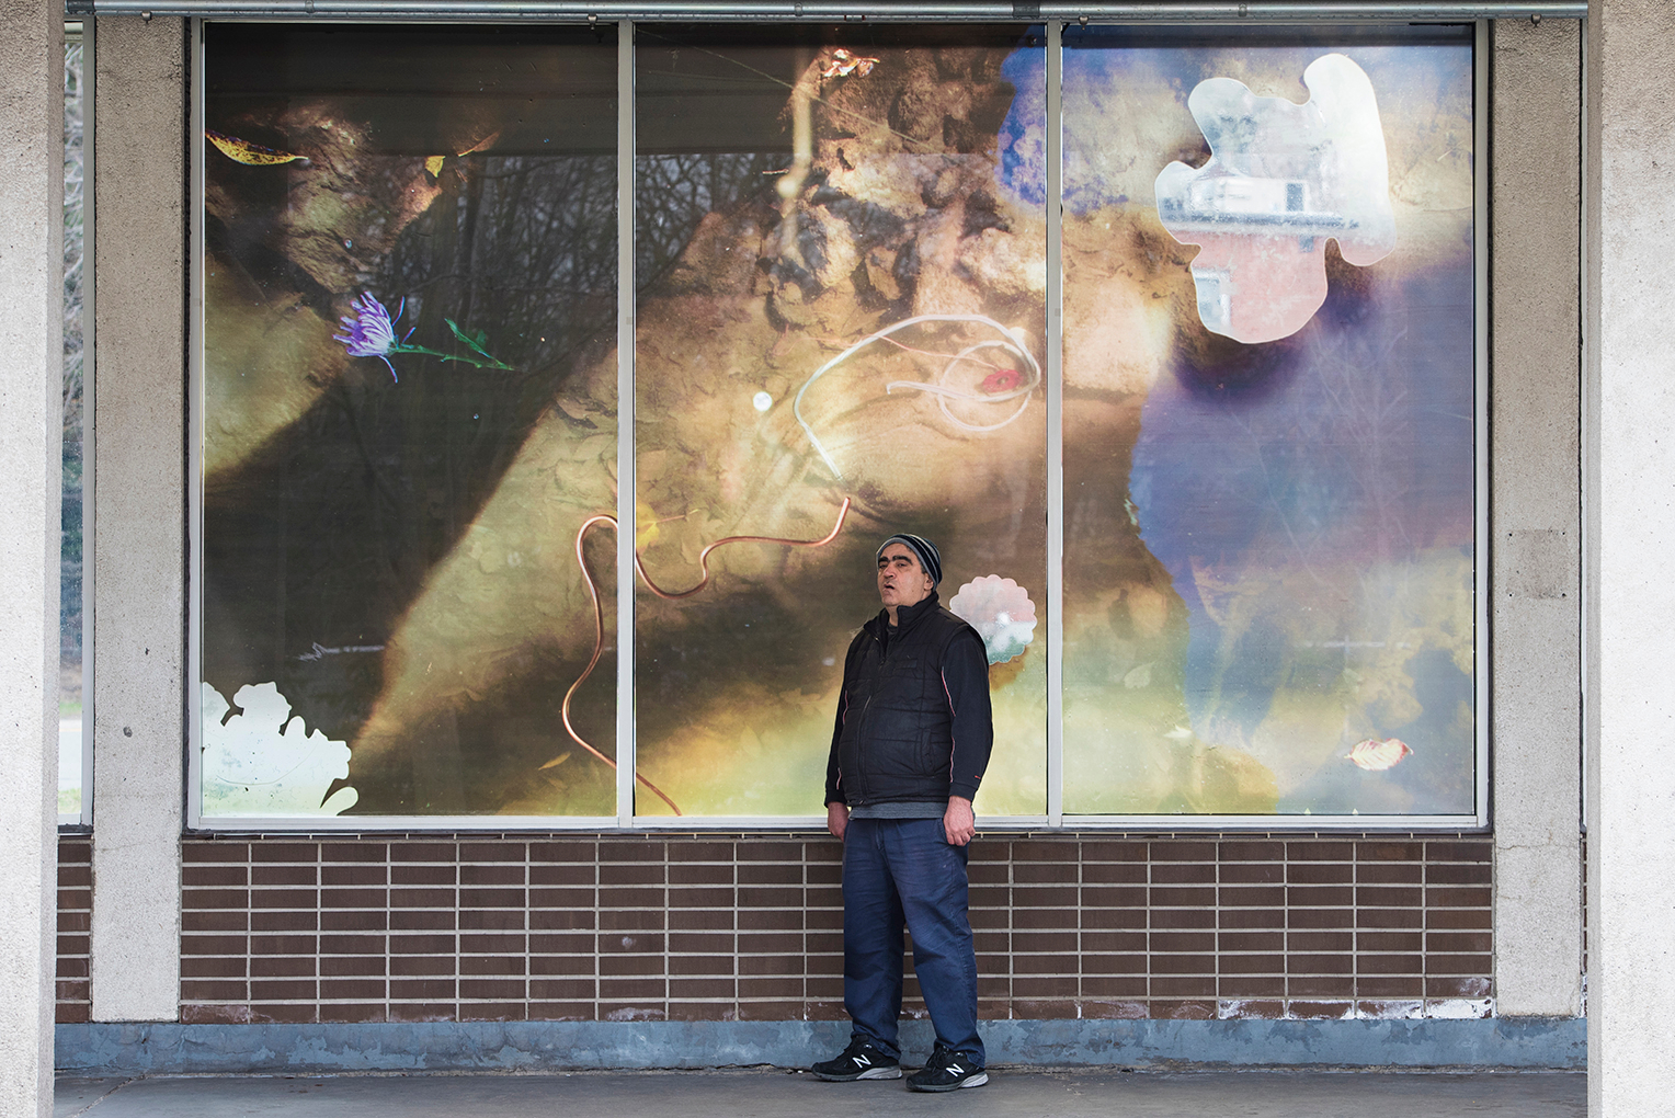
{"type": "Polygon", "coordinates": [[[970,626],[936,599],[896,611],[888,634],[879,614],[851,646],[838,736],[839,788],[849,807],[945,802],[953,763],[953,711],[941,664],[970,626]]]}

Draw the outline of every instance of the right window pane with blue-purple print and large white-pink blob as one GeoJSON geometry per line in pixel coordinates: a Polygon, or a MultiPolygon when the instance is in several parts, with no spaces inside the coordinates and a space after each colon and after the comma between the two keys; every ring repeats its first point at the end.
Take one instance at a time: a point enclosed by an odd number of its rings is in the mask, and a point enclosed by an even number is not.
{"type": "Polygon", "coordinates": [[[1472,813],[1469,28],[1065,45],[1065,810],[1472,813]]]}

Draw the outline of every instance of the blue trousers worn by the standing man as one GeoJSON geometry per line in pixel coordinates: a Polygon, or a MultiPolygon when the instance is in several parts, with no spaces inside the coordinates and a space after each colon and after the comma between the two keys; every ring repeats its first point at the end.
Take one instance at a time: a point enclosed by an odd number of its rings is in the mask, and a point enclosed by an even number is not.
{"type": "Polygon", "coordinates": [[[843,844],[843,1004],[854,1034],[901,1058],[901,926],[936,1039],[983,1066],[965,847],[940,818],[851,818],[843,844]]]}

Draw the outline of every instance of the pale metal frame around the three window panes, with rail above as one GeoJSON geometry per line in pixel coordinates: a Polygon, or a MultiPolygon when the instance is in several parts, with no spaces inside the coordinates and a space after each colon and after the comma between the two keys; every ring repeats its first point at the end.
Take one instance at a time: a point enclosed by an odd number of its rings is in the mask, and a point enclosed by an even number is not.
{"type": "MultiPolygon", "coordinates": [[[[422,0],[303,0],[308,12],[315,15],[332,15],[335,18],[380,18],[385,22],[420,22],[410,17],[422,0]],[[390,17],[384,10],[392,12],[390,17]],[[400,8],[400,18],[395,10],[400,8]]],[[[126,12],[129,5],[141,10],[131,0],[80,0],[82,5],[97,5],[99,13],[126,12]]],[[[621,526],[616,532],[616,812],[613,815],[353,815],[353,817],[206,817],[203,815],[203,343],[204,343],[204,298],[203,298],[203,204],[204,204],[204,37],[203,25],[208,18],[223,20],[261,20],[261,22],[313,22],[308,18],[285,18],[298,15],[300,10],[286,5],[266,5],[260,10],[234,0],[198,0],[186,3],[174,0],[176,8],[156,7],[152,13],[191,15],[191,142],[188,157],[191,161],[191,340],[189,340],[189,531],[191,559],[188,584],[188,782],[186,782],[186,817],[188,830],[216,833],[472,833],[472,832],[593,832],[593,833],[770,833],[770,832],[807,832],[822,830],[826,820],[817,815],[700,815],[700,817],[665,817],[635,813],[635,641],[633,641],[633,606],[635,606],[635,328],[636,328],[636,288],[635,288],[635,25],[643,20],[727,20],[757,18],[784,22],[848,22],[854,18],[854,8],[844,15],[836,12],[838,5],[829,3],[757,3],[757,5],[722,5],[722,3],[642,3],[633,13],[621,18],[595,20],[576,18],[585,5],[575,3],[524,3],[516,10],[521,18],[548,17],[549,22],[615,22],[618,25],[616,52],[616,234],[618,234],[618,286],[616,286],[616,388],[618,388],[618,450],[616,450],[616,519],[621,526]],[[786,10],[796,7],[796,13],[786,10]],[[831,15],[817,15],[832,8],[831,15]],[[223,15],[226,12],[228,15],[223,15]],[[760,12],[755,17],[742,17],[739,12],[760,12]],[[275,20],[271,15],[280,15],[275,20]],[[729,15],[732,13],[732,15],[729,15]]],[[[74,12],[77,2],[72,0],[74,12]]],[[[492,20],[506,17],[508,0],[482,0],[481,3],[461,3],[449,0],[447,7],[437,5],[427,12],[449,12],[454,20],[492,20]]],[[[1126,23],[1126,22],[1164,22],[1183,23],[1193,20],[1196,27],[1248,27],[1253,20],[1399,20],[1404,17],[1429,18],[1435,22],[1474,22],[1472,37],[1472,136],[1474,136],[1474,169],[1472,169],[1472,251],[1474,251],[1474,505],[1476,505],[1476,554],[1474,554],[1474,618],[1476,618],[1476,751],[1474,751],[1474,788],[1476,808],[1469,813],[1447,815],[1312,815],[1312,813],[1218,813],[1218,815],[1089,815],[1064,812],[1064,718],[1062,718],[1062,606],[1064,606],[1064,432],[1062,432],[1062,351],[1064,351],[1064,276],[1062,276],[1062,204],[1054,211],[1049,201],[1047,213],[1047,802],[1040,815],[978,815],[978,828],[983,832],[1007,833],[1077,833],[1077,832],[1345,832],[1345,833],[1379,833],[1379,832],[1462,832],[1486,830],[1489,825],[1489,444],[1487,444],[1487,387],[1489,387],[1489,256],[1487,256],[1487,132],[1489,132],[1489,50],[1487,18],[1504,15],[1551,15],[1556,18],[1576,18],[1585,15],[1585,3],[1569,0],[1551,0],[1538,3],[1104,3],[1084,5],[1069,17],[1045,17],[1044,12],[1059,8],[1055,5],[915,5],[913,8],[889,8],[896,20],[913,22],[1045,22],[1047,27],[1047,196],[1062,197],[1062,30],[1075,18],[1079,23],[1126,23]],[[1003,13],[998,8],[1005,8],[1003,13]],[[1028,7],[1033,15],[1020,13],[1028,7]],[[987,15],[948,15],[948,12],[972,12],[982,8],[987,15]],[[1229,12],[1238,8],[1238,12],[1229,12]],[[1303,10],[1308,15],[1303,15],[1303,10]],[[918,12],[920,15],[904,15],[918,12]],[[1087,13],[1087,18],[1080,18],[1087,13]],[[1330,13],[1330,15],[1328,15],[1330,13]]],[[[509,18],[509,17],[508,17],[509,18]]],[[[866,18],[866,17],[861,17],[866,18]]]]}

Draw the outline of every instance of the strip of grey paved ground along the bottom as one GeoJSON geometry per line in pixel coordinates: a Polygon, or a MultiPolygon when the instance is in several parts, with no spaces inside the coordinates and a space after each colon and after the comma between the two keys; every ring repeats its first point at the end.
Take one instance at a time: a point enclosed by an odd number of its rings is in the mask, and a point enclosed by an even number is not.
{"type": "Polygon", "coordinates": [[[819,1083],[777,1069],[541,1076],[60,1080],[55,1118],[1585,1118],[1581,1073],[997,1071],[983,1088],[819,1083]],[[953,1110],[953,1108],[958,1110],[953,1110]]]}

